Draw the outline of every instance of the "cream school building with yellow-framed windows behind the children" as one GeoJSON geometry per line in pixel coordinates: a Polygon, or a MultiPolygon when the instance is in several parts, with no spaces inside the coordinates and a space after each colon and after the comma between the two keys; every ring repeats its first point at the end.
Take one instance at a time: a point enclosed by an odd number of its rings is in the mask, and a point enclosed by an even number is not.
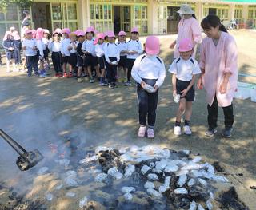
{"type": "Polygon", "coordinates": [[[198,20],[207,14],[217,14],[223,21],[236,19],[238,27],[255,28],[256,0],[34,0],[30,8],[9,6],[0,13],[0,38],[10,26],[20,29],[22,10],[30,10],[34,28],[53,31],[94,26],[96,30],[129,32],[134,26],[140,34],[174,34],[177,32],[180,5],[188,3],[198,20]]]}

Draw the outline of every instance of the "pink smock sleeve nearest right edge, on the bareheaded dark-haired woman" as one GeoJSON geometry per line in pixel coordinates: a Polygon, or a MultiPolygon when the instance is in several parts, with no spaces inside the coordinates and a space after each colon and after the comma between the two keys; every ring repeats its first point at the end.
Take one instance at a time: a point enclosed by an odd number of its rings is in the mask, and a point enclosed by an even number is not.
{"type": "Polygon", "coordinates": [[[234,73],[238,70],[238,49],[234,38],[226,41],[226,61],[224,73],[234,73]]]}

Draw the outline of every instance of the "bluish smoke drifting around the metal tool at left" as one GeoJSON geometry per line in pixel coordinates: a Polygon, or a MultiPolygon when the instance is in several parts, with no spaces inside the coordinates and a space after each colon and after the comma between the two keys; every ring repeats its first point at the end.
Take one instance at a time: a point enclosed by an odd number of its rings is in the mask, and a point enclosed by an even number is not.
{"type": "MultiPolygon", "coordinates": [[[[72,131],[72,134],[70,134],[70,117],[66,115],[54,117],[54,113],[50,109],[25,109],[19,112],[2,113],[0,128],[22,145],[26,151],[38,149],[45,157],[34,168],[21,172],[16,166],[18,153],[0,137],[0,183],[5,180],[8,184],[10,180],[11,185],[15,185],[17,180],[27,180],[27,177],[33,176],[42,165],[53,165],[53,147],[61,148],[62,153],[68,157],[71,149],[65,146],[66,139],[69,137],[85,137],[85,133],[81,130],[78,130],[78,132],[72,131]]],[[[83,141],[83,143],[85,142],[83,141]]],[[[19,181],[17,185],[21,183],[19,181]]]]}

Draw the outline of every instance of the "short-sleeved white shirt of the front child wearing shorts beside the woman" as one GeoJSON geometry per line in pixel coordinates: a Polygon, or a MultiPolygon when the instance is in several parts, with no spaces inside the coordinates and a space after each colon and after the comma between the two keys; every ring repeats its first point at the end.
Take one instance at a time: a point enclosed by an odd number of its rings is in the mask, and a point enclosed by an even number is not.
{"type": "Polygon", "coordinates": [[[190,81],[194,74],[201,73],[198,61],[193,57],[188,60],[183,60],[182,57],[176,58],[168,71],[176,74],[177,79],[181,81],[190,81]]]}

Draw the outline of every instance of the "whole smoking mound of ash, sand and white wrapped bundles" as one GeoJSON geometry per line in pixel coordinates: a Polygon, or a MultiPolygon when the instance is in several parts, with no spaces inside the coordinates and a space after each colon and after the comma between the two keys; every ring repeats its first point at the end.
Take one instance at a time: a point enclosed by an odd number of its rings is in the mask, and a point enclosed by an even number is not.
{"type": "Polygon", "coordinates": [[[0,184],[0,195],[6,196],[0,197],[0,209],[249,209],[218,167],[188,150],[78,149],[74,143],[50,145],[53,157],[26,174],[33,182],[26,193],[0,184]]]}

